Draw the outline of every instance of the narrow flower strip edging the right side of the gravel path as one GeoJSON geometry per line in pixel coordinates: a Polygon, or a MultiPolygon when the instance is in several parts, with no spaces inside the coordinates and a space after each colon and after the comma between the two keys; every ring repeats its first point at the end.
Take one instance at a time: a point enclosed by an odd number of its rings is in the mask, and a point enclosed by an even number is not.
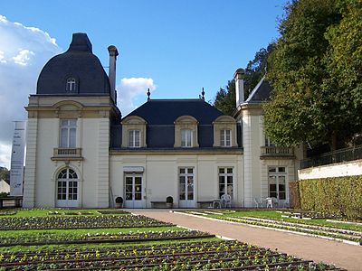
{"type": "Polygon", "coordinates": [[[272,229],[286,229],[296,232],[303,232],[311,235],[336,238],[342,240],[348,240],[355,242],[359,245],[362,245],[362,232],[348,229],[337,229],[330,227],[321,227],[316,225],[301,224],[301,223],[292,223],[282,220],[266,220],[252,217],[217,217],[219,220],[228,220],[237,223],[243,223],[248,225],[262,226],[272,229]]]}

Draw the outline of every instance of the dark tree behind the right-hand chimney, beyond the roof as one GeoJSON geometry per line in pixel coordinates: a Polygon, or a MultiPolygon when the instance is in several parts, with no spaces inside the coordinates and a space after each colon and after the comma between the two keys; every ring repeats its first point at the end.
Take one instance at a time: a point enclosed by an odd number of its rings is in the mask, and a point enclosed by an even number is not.
{"type": "MultiPolygon", "coordinates": [[[[259,83],[265,75],[268,55],[271,53],[274,43],[269,44],[267,49],[262,48],[255,53],[254,59],[249,61],[244,74],[244,98],[248,98],[252,89],[259,83]]],[[[236,108],[235,81],[229,80],[224,89],[216,93],[214,107],[222,111],[225,115],[232,115],[236,108]]]]}

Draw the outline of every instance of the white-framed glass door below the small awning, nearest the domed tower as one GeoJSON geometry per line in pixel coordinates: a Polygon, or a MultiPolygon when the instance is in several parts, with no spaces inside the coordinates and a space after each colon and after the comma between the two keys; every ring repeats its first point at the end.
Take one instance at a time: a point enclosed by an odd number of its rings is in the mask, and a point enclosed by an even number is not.
{"type": "Polygon", "coordinates": [[[125,193],[126,208],[143,208],[142,176],[136,174],[126,175],[125,193]]]}

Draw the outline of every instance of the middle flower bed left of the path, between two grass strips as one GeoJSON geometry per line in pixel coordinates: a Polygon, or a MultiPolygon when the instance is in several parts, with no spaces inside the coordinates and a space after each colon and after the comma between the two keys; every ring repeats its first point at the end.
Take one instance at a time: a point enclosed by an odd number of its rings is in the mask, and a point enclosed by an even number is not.
{"type": "Polygon", "coordinates": [[[0,247],[11,246],[40,246],[52,244],[77,243],[110,243],[129,241],[152,241],[186,238],[214,238],[214,235],[197,230],[167,230],[167,231],[137,231],[115,233],[87,233],[84,235],[71,235],[43,233],[42,235],[3,236],[0,238],[0,247]]]}

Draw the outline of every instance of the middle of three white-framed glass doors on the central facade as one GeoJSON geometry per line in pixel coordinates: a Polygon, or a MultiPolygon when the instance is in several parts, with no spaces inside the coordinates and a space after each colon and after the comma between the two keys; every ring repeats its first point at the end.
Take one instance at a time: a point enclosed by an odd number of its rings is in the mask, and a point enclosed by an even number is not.
{"type": "Polygon", "coordinates": [[[194,169],[180,168],[179,170],[179,207],[195,208],[194,169]]]}

